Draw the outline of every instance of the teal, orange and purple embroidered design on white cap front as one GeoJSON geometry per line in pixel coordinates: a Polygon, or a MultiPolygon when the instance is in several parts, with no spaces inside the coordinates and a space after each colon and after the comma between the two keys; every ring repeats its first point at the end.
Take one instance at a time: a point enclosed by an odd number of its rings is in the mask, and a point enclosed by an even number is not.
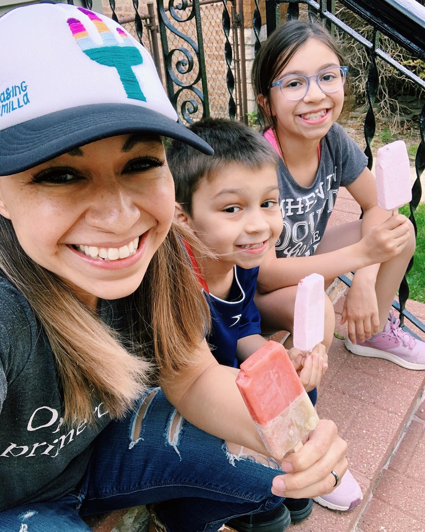
{"type": "Polygon", "coordinates": [[[84,9],[84,7],[79,7],[78,10],[87,15],[95,24],[103,43],[101,46],[96,44],[80,20],[67,19],[72,35],[84,54],[96,63],[116,68],[126,95],[129,98],[146,102],[146,97],[142,93],[139,81],[132,70],[132,66],[143,63],[140,51],[132,44],[128,35],[121,28],[116,28],[118,35],[122,38],[122,42],[118,43],[112,31],[96,13],[84,9]]]}

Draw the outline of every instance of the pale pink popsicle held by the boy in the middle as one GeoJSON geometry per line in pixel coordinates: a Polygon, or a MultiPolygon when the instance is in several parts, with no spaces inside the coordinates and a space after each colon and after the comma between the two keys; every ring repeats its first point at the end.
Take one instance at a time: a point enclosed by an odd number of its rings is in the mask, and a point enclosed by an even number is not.
{"type": "Polygon", "coordinates": [[[294,311],[294,347],[310,353],[320,344],[325,330],[325,279],[318,273],[298,283],[294,311]]]}

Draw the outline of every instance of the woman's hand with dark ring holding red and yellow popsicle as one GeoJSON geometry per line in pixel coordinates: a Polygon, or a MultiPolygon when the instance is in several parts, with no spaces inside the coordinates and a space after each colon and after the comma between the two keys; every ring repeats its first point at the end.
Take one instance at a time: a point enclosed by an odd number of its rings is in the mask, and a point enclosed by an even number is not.
{"type": "Polygon", "coordinates": [[[273,480],[271,491],[278,497],[312,498],[334,491],[335,470],[340,481],[348,467],[346,442],[338,436],[333,421],[321,419],[298,453],[285,456],[281,468],[286,475],[273,480]]]}

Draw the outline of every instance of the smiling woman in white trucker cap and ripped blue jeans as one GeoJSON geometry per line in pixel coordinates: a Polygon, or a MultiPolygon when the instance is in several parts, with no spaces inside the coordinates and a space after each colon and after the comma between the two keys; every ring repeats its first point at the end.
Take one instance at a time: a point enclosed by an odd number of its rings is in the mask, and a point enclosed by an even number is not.
{"type": "Polygon", "coordinates": [[[211,150],[145,49],[51,3],[3,16],[0,49],[1,532],[88,531],[82,516],[146,503],[151,530],[215,532],[332,491],[347,467],[334,423],[284,477],[265,467],[203,339],[159,135],[211,150]],[[233,465],[227,442],[254,451],[233,465]]]}

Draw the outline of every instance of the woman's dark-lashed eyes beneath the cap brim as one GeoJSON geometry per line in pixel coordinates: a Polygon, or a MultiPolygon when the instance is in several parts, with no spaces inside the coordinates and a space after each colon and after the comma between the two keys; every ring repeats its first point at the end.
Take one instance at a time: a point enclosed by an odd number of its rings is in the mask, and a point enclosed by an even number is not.
{"type": "MultiPolygon", "coordinates": [[[[123,168],[125,173],[142,173],[151,169],[162,167],[165,164],[164,159],[157,157],[137,157],[132,159],[123,168]]],[[[43,183],[46,185],[66,185],[84,179],[84,176],[71,167],[50,167],[41,172],[31,174],[31,183],[43,183]]]]}

